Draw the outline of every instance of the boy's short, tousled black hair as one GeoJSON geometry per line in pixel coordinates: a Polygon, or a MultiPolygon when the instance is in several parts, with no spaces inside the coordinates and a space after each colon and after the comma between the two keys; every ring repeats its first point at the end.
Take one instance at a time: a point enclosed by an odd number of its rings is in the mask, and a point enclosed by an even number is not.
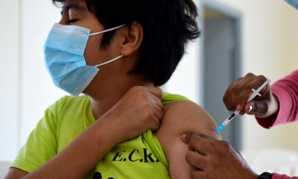
{"type": "MultiPolygon", "coordinates": [[[[54,5],[65,0],[52,0],[54,5]]],[[[138,63],[129,74],[141,73],[155,86],[165,84],[184,55],[190,40],[200,36],[196,5],[192,0],[85,0],[98,21],[110,29],[133,21],[142,25],[144,37],[138,63]]],[[[108,47],[115,31],[104,33],[108,47]]]]}

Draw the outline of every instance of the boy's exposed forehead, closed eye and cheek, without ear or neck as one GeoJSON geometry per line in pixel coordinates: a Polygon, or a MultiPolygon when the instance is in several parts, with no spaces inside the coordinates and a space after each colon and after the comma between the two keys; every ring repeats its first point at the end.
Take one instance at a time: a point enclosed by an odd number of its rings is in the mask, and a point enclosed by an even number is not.
{"type": "MultiPolygon", "coordinates": [[[[90,34],[105,30],[95,15],[88,11],[84,0],[66,0],[62,9],[62,17],[59,24],[77,25],[91,29],[90,34]]],[[[100,49],[102,36],[103,34],[98,34],[89,37],[84,52],[87,65],[95,66],[121,55],[120,47],[118,45],[120,44],[119,40],[121,39],[117,38],[117,33],[106,49],[100,49]]]]}

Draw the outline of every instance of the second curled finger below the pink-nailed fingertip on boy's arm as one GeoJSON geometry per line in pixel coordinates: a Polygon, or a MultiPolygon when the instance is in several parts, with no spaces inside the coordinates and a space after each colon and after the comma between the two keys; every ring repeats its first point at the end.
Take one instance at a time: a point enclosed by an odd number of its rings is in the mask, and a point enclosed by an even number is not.
{"type": "Polygon", "coordinates": [[[207,166],[206,157],[193,151],[189,151],[185,155],[186,162],[200,170],[204,171],[207,166]]]}

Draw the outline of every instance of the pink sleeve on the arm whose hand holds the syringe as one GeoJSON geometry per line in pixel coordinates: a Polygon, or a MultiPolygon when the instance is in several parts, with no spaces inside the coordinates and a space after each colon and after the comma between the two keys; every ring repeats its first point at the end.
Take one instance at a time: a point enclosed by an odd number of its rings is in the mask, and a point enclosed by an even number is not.
{"type": "Polygon", "coordinates": [[[298,70],[277,81],[271,87],[278,98],[279,112],[267,118],[256,118],[264,128],[298,121],[298,70]]]}

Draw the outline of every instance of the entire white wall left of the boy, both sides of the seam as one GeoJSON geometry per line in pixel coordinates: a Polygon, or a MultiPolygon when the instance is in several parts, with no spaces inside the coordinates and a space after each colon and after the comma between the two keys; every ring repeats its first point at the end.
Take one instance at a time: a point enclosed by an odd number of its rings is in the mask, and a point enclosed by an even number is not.
{"type": "Polygon", "coordinates": [[[0,6],[0,160],[12,161],[45,109],[64,96],[47,73],[43,43],[60,9],[51,0],[4,0],[0,6]]]}

